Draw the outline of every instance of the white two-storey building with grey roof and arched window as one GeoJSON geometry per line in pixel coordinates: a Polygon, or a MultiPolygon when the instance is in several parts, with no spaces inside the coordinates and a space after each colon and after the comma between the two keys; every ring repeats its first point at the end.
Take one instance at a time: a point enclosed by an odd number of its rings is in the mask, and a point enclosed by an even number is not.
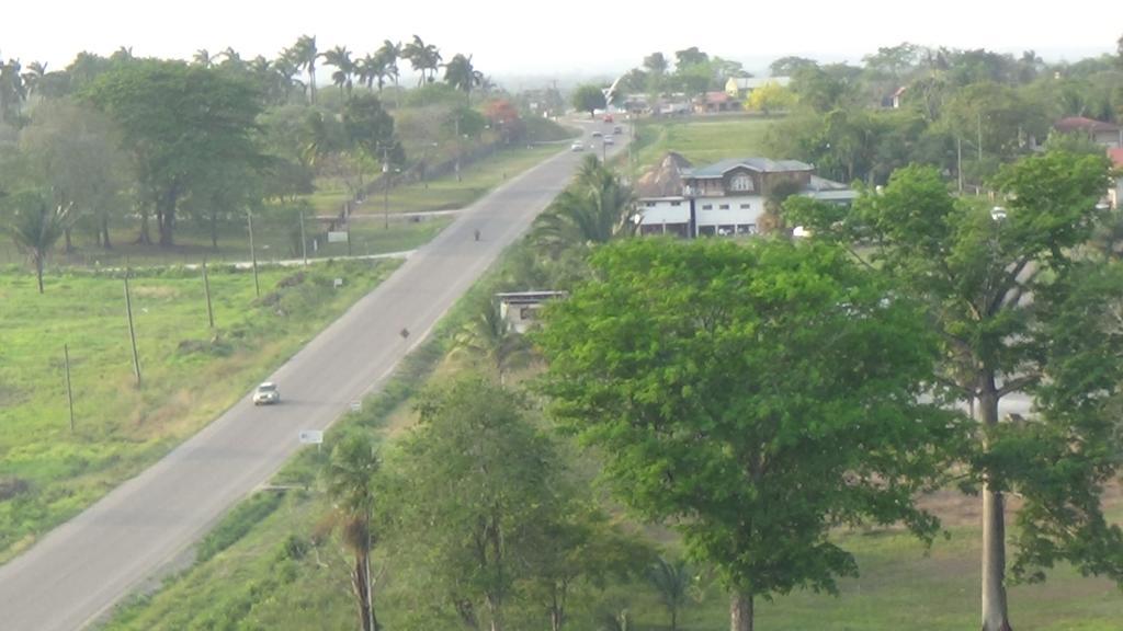
{"type": "Polygon", "coordinates": [[[687,238],[754,235],[767,200],[780,193],[843,204],[857,196],[794,159],[731,158],[694,168],[675,153],[640,177],[636,190],[641,235],[687,238]]]}

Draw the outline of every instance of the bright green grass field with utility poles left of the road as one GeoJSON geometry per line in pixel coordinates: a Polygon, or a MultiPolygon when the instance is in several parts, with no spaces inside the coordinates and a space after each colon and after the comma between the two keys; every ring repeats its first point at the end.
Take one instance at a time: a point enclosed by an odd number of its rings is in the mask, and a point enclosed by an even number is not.
{"type": "Polygon", "coordinates": [[[119,275],[52,275],[39,295],[34,275],[0,274],[0,561],[198,431],[396,265],[266,268],[261,299],[249,272],[211,267],[214,332],[199,272],[140,273],[130,281],[139,388],[119,275]]]}

